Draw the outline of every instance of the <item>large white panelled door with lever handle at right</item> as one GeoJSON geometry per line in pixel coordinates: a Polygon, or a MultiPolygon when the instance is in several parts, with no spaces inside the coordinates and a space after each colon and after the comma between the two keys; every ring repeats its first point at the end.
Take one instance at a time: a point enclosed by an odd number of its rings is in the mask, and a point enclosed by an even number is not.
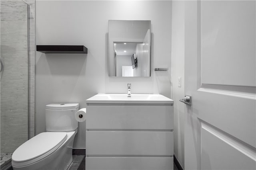
{"type": "Polygon", "coordinates": [[[185,3],[185,169],[256,169],[256,1],[185,3]]]}

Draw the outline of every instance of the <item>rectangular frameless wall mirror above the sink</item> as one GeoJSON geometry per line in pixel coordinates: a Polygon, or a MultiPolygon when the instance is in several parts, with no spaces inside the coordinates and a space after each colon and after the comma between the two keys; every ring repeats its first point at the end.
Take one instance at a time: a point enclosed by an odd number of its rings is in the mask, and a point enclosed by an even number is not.
{"type": "Polygon", "coordinates": [[[151,21],[108,21],[108,76],[150,76],[151,21]]]}

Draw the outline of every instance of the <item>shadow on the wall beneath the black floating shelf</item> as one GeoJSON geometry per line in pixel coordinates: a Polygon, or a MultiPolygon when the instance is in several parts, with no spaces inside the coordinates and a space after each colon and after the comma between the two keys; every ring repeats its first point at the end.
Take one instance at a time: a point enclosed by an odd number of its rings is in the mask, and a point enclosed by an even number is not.
{"type": "Polygon", "coordinates": [[[78,76],[86,73],[87,54],[44,54],[36,66],[36,74],[78,76]],[[48,66],[48,68],[47,68],[48,66]]]}

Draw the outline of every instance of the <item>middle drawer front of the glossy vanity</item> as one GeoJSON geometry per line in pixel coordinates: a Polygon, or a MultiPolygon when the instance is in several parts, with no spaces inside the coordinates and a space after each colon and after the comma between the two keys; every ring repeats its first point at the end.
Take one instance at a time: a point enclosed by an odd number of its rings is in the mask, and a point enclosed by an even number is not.
{"type": "Polygon", "coordinates": [[[173,155],[173,132],[86,131],[86,155],[173,155]]]}

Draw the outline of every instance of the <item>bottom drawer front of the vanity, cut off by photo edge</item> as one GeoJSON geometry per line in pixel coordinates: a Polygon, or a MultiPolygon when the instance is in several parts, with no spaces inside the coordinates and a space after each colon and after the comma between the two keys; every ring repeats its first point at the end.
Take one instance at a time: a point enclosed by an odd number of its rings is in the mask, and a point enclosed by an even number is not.
{"type": "Polygon", "coordinates": [[[86,157],[86,170],[173,170],[173,157],[86,157]]]}

